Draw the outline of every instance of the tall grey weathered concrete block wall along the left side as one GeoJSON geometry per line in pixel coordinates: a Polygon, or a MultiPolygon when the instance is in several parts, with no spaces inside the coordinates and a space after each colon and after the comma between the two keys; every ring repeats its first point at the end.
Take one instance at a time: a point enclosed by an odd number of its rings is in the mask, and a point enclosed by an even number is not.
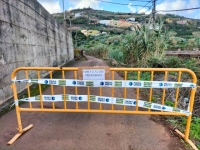
{"type": "MultiPolygon", "coordinates": [[[[0,0],[0,105],[13,95],[10,84],[15,68],[60,66],[73,55],[71,33],[36,0],[0,0]]],[[[22,78],[23,73],[17,76],[22,78]]]]}

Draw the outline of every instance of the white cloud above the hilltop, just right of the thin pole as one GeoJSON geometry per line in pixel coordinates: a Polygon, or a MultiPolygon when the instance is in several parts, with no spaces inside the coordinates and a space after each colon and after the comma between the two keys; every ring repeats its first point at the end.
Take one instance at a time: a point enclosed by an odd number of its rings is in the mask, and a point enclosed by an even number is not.
{"type": "Polygon", "coordinates": [[[77,8],[93,8],[93,9],[102,9],[99,5],[100,2],[94,0],[69,0],[69,4],[72,5],[70,9],[77,8]]]}

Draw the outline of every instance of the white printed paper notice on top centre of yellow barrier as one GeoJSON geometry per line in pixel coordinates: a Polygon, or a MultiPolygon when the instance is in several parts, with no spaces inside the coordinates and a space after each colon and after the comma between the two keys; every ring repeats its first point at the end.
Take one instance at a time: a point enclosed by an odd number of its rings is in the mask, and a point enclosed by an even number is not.
{"type": "Polygon", "coordinates": [[[105,80],[104,69],[83,69],[83,80],[105,80]]]}

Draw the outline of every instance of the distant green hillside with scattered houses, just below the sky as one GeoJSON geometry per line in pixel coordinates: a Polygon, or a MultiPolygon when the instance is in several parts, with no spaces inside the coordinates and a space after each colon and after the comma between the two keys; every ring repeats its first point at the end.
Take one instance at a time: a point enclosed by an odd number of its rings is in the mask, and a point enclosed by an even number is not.
{"type": "MultiPolygon", "coordinates": [[[[53,16],[59,21],[63,22],[63,13],[53,14],[53,16]]],[[[70,13],[66,12],[66,22],[69,26],[70,20],[72,29],[96,29],[102,27],[101,24],[94,24],[92,22],[95,18],[97,20],[120,20],[127,18],[135,18],[135,22],[140,24],[146,24],[149,22],[150,15],[145,14],[134,14],[134,13],[123,13],[123,12],[110,12],[104,10],[94,10],[91,8],[75,9],[70,13]],[[76,17],[76,14],[82,13],[83,15],[76,17]],[[89,26],[88,26],[89,25],[89,26]],[[75,27],[75,28],[74,28],[75,27]]],[[[189,19],[183,16],[173,14],[157,14],[157,22],[162,20],[164,22],[164,29],[174,31],[176,36],[183,38],[193,37],[193,32],[200,32],[200,20],[189,19]],[[183,23],[181,22],[183,21],[183,23]],[[186,21],[186,22],[184,22],[186,21]]],[[[105,26],[104,26],[105,27],[105,26]]]]}

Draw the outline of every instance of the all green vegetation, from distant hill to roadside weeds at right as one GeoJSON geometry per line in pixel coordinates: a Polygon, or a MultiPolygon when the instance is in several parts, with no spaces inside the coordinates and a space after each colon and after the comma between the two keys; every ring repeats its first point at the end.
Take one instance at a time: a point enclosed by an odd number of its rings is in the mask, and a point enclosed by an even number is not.
{"type": "MultiPolygon", "coordinates": [[[[152,30],[144,23],[149,21],[149,16],[145,14],[133,13],[113,13],[103,10],[93,10],[91,8],[76,9],[71,13],[84,12],[84,16],[78,18],[70,18],[72,24],[79,25],[80,29],[98,30],[99,36],[84,36],[80,31],[73,31],[74,45],[78,49],[83,49],[86,54],[107,60],[113,66],[122,67],[148,67],[148,68],[188,68],[197,72],[200,77],[200,63],[195,58],[178,58],[165,57],[166,50],[192,50],[200,47],[200,20],[188,19],[173,14],[158,14],[157,24],[159,29],[152,30]],[[143,24],[135,31],[130,28],[116,28],[105,25],[89,24],[89,17],[93,16],[99,20],[119,20],[126,18],[135,18],[140,24],[143,24]],[[84,19],[85,18],[85,19],[84,19]],[[168,22],[166,19],[171,20],[168,22]],[[161,21],[162,20],[162,21],[161,21]],[[185,24],[178,24],[177,21],[187,20],[185,24]]],[[[57,14],[58,15],[58,14],[57,14]]],[[[59,16],[59,15],[58,15],[59,16]]],[[[57,18],[59,18],[57,16],[57,18]]],[[[67,19],[67,23],[69,23],[67,19]]],[[[58,19],[61,20],[61,19],[58,19]]],[[[159,73],[157,74],[159,75],[159,73]]],[[[172,78],[177,77],[177,73],[170,73],[172,78]]],[[[188,81],[188,74],[182,74],[183,80],[188,81]]],[[[128,72],[128,80],[137,80],[137,72],[128,72]]],[[[151,74],[149,72],[141,72],[140,80],[149,81],[151,74]]],[[[141,90],[142,92],[142,90],[141,90]]],[[[187,92],[187,91],[186,91],[187,92]]],[[[144,96],[145,93],[143,92],[144,96]]],[[[148,95],[147,95],[148,96],[148,95]]],[[[159,102],[160,95],[154,93],[152,102],[159,102]]],[[[174,102],[167,98],[165,105],[174,106],[174,102]]],[[[184,117],[168,117],[168,121],[184,132],[186,118],[184,117]]],[[[200,148],[200,118],[193,117],[190,129],[190,138],[196,141],[196,145],[200,148]]]]}

